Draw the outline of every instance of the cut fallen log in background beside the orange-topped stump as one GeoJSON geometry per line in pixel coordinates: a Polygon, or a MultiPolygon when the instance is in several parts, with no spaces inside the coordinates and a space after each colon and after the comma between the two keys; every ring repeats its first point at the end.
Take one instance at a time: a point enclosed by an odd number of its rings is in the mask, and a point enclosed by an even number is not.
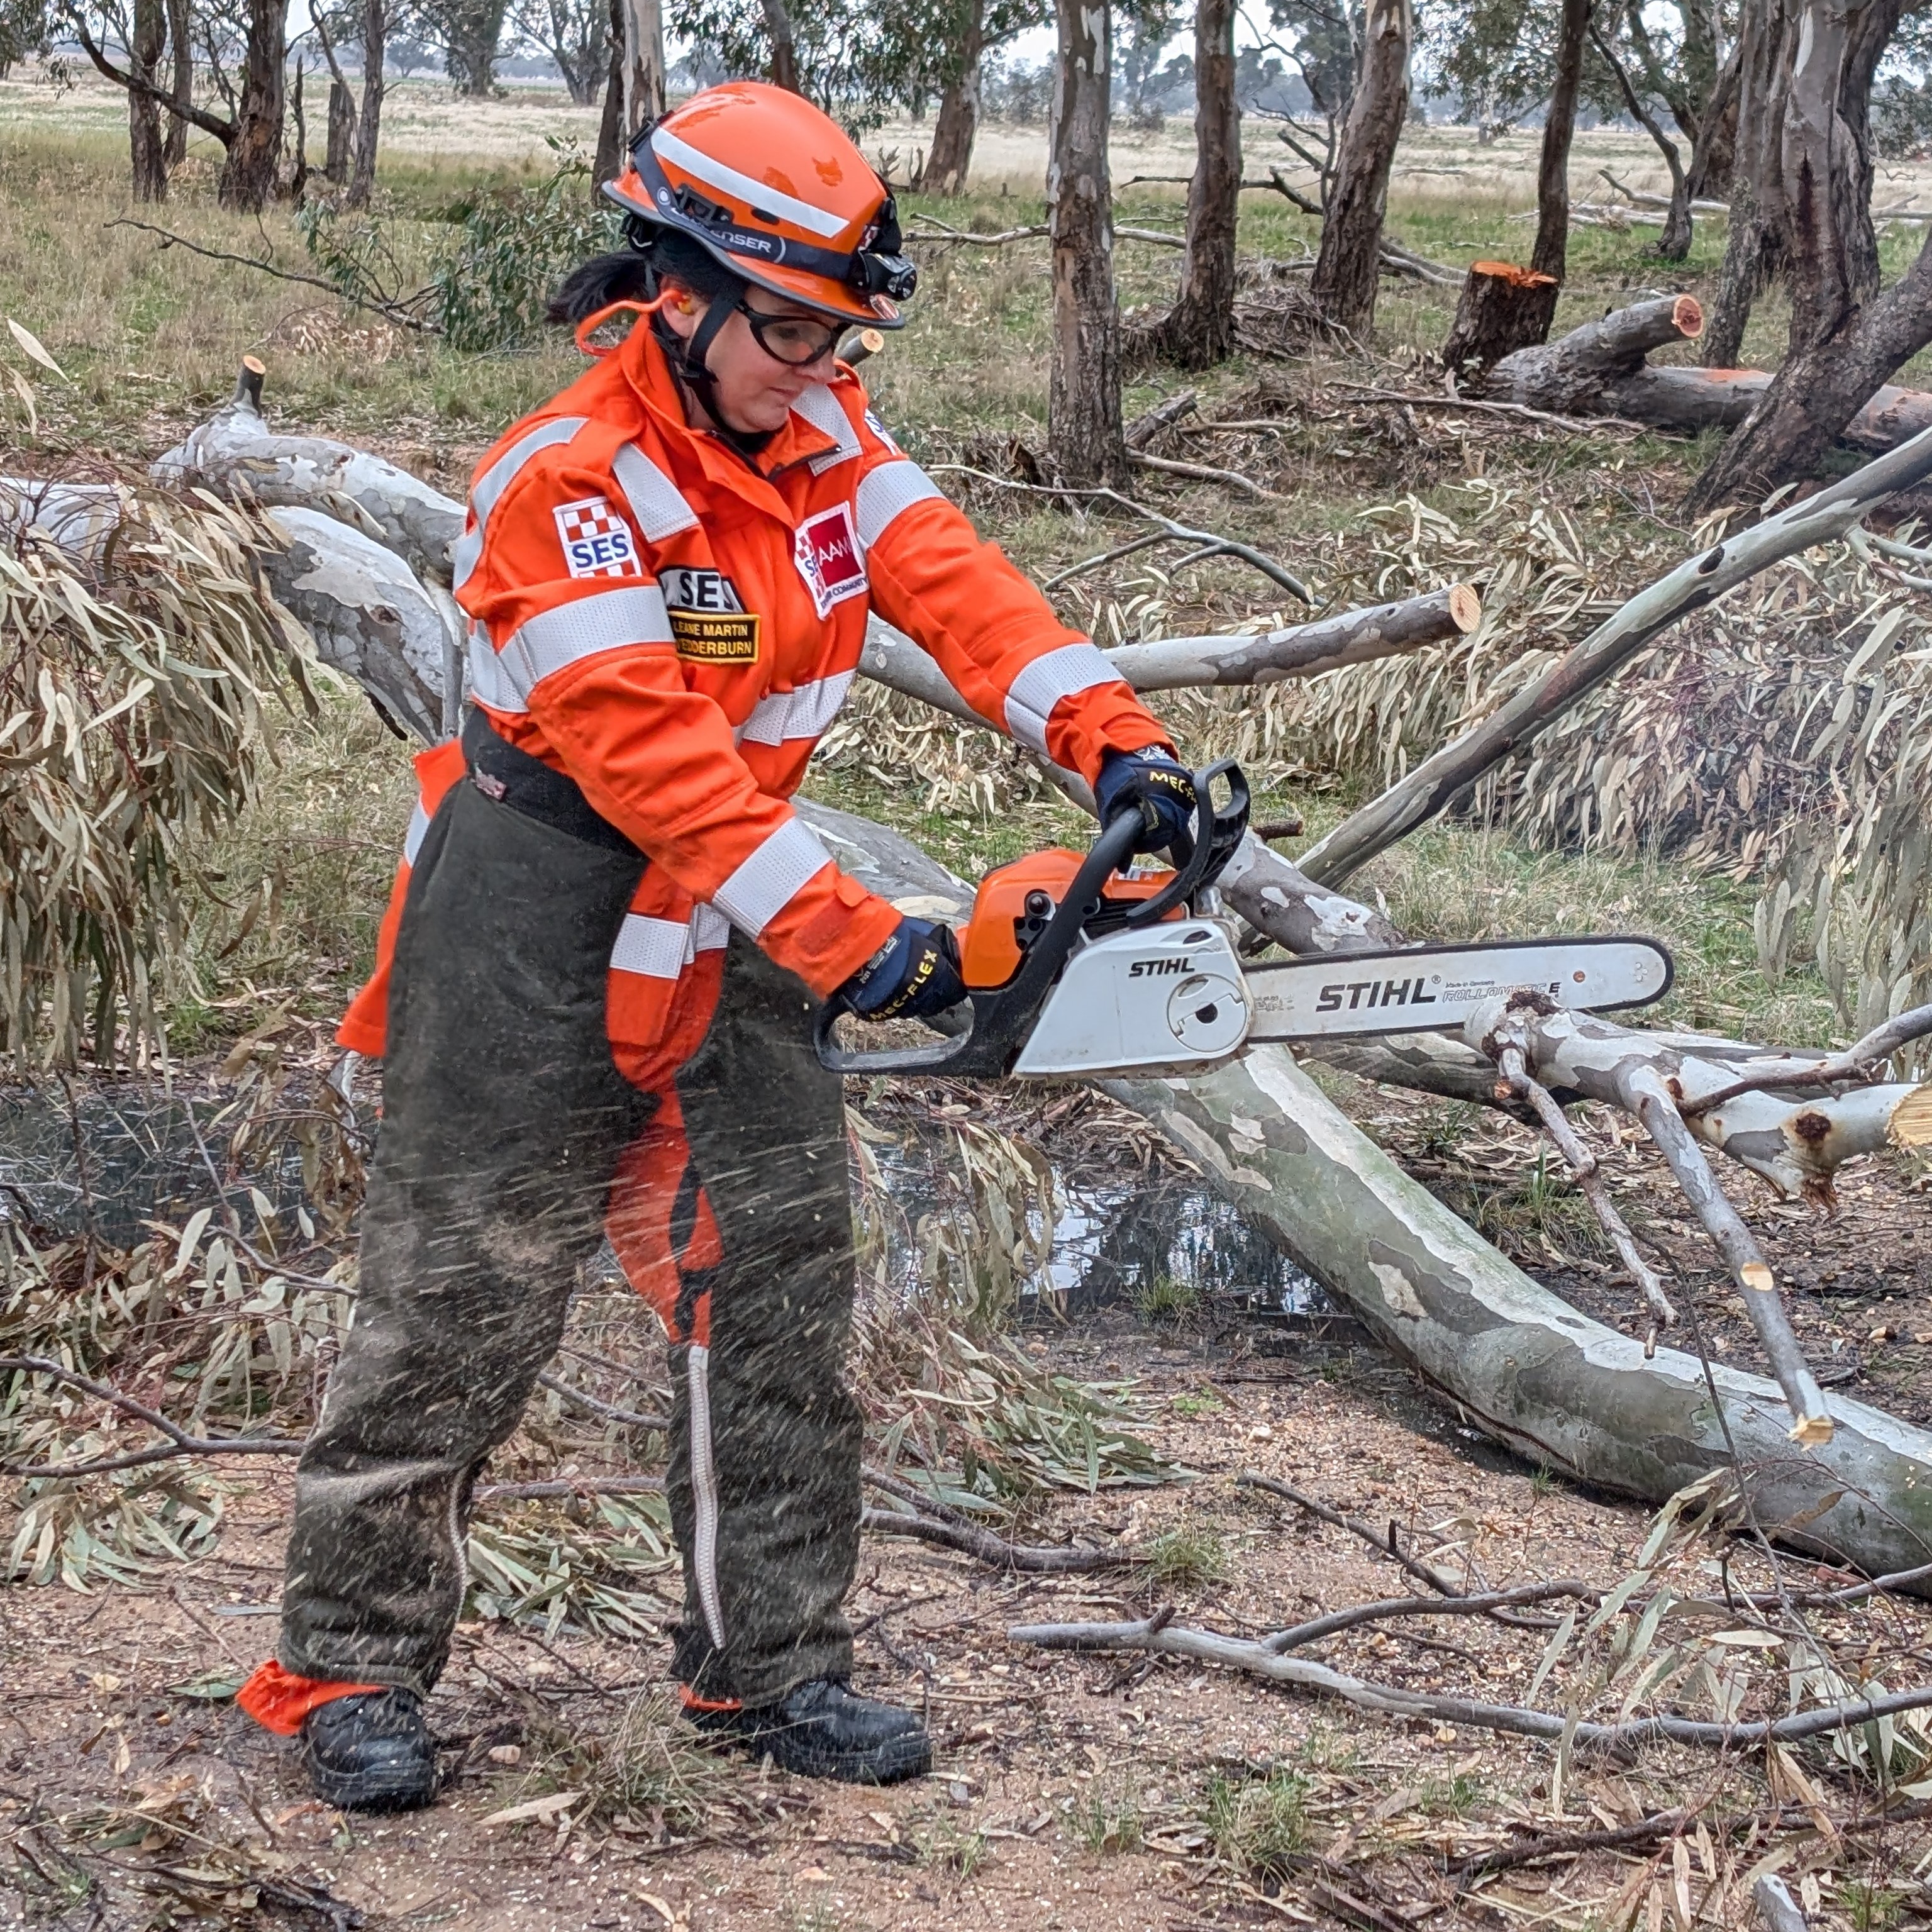
{"type": "MultiPolygon", "coordinates": [[[[1478,270],[1470,270],[1470,288],[1478,270]]],[[[1466,301],[1468,298],[1464,298],[1466,301]]],[[[1461,328],[1463,315],[1457,313],[1461,328]]],[[[1652,369],[1650,350],[1694,342],[1704,332],[1704,311],[1692,296],[1662,296],[1617,309],[1555,342],[1503,355],[1482,379],[1492,402],[1551,410],[1567,415],[1617,415],[1629,423],[1696,435],[1700,429],[1737,429],[1772,386],[1764,369],[1652,369]]],[[[1451,348],[1457,336],[1451,334],[1451,348]]],[[[1474,352],[1464,352],[1464,355],[1474,352]]],[[[1449,359],[1459,367],[1459,359],[1449,359]]],[[[1839,433],[1855,450],[1880,454],[1932,429],[1932,392],[1886,383],[1839,433]]]]}

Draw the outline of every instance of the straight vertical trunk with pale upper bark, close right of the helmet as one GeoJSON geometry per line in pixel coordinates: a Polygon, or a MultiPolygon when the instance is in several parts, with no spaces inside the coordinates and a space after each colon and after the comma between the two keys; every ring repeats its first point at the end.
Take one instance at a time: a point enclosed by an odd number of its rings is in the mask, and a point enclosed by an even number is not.
{"type": "Polygon", "coordinates": [[[1107,0],[1059,0],[1059,64],[1047,122],[1053,245],[1053,369],[1047,446],[1065,483],[1126,489],[1121,423],[1121,309],[1113,288],[1107,174],[1107,0]]]}

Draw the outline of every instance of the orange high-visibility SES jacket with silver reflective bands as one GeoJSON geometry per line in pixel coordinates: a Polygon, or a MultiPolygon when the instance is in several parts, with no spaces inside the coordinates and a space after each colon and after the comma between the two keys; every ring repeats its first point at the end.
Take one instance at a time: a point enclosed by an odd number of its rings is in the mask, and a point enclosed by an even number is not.
{"type": "MultiPolygon", "coordinates": [[[[636,327],[485,456],[454,587],[491,724],[649,858],[611,954],[611,1037],[634,1049],[674,1007],[684,1032],[694,995],[709,1014],[707,954],[732,925],[819,995],[896,925],[788,804],[852,686],[867,611],[989,724],[1088,781],[1107,752],[1169,742],[898,450],[842,363],[753,464],[686,425],[661,346],[636,327]]],[[[383,1051],[408,856],[464,765],[439,746],[417,769],[377,976],[340,1032],[363,1053],[383,1051]]]]}

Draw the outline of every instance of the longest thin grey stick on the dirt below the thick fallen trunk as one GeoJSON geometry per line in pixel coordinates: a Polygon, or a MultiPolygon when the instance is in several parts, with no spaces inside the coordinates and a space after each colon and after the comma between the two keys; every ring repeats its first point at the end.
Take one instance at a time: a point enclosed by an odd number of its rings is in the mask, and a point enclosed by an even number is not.
{"type": "Polygon", "coordinates": [[[1573,1716],[1551,1710],[1528,1710],[1522,1704],[1484,1704],[1476,1698],[1437,1696],[1406,1690],[1397,1685],[1376,1685],[1347,1671],[1316,1663],[1312,1658],[1277,1656],[1265,1642],[1242,1636],[1219,1636],[1213,1631],[1192,1631],[1180,1625],[1151,1629],[1151,1619],[1138,1623],[1020,1623],[1007,1631],[1012,1644],[1032,1644],[1039,1650],[1153,1650],[1171,1658],[1192,1658],[1198,1663],[1223,1663],[1250,1671],[1269,1683],[1293,1685],[1341,1698],[1356,1710],[1374,1710],[1391,1718],[1426,1718],[1434,1723],[1466,1723],[1476,1731],[1507,1731],[1517,1737],[1542,1737],[1596,1748],[1629,1750],[1634,1745],[1673,1743],[1706,1745],[1721,1750],[1748,1750],[1766,1745],[1789,1745],[1830,1731],[1853,1729],[1893,1718],[1907,1710],[1932,1706],[1932,1687],[1893,1690],[1886,1696],[1849,1698],[1822,1710],[1793,1712],[1785,1718],[1766,1718],[1754,1723],[1706,1723],[1694,1718],[1633,1718],[1623,1723],[1577,1723],[1573,1716]]]}

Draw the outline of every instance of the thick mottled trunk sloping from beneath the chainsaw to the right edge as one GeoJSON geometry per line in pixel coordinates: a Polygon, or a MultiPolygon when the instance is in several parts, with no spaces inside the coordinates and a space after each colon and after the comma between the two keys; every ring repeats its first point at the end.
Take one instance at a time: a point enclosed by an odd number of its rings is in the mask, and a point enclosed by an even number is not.
{"type": "MultiPolygon", "coordinates": [[[[1111,1080],[1393,1354],[1530,1463],[1662,1501],[1731,1461],[1783,1542],[1878,1575],[1932,1551],[1932,1434],[1837,1395],[1803,1451],[1774,1381],[1588,1320],[1412,1180],[1279,1047],[1111,1080]]],[[[1920,1586],[1924,1588],[1924,1586],[1920,1586]]]]}

